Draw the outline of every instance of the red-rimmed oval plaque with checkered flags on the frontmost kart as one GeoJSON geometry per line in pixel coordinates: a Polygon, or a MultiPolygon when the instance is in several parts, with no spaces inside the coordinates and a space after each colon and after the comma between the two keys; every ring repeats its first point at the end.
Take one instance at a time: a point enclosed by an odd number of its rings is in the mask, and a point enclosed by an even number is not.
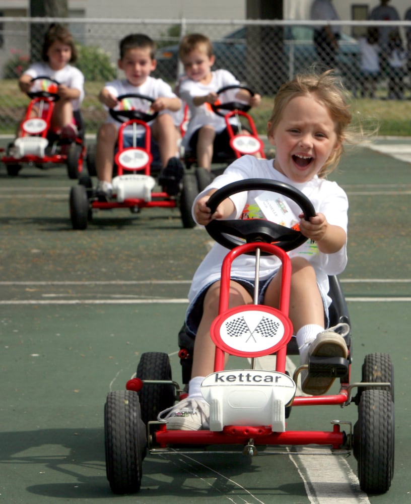
{"type": "Polygon", "coordinates": [[[274,353],[286,345],[292,324],[281,311],[262,305],[235,307],[213,322],[211,337],[225,352],[244,357],[274,353]]]}

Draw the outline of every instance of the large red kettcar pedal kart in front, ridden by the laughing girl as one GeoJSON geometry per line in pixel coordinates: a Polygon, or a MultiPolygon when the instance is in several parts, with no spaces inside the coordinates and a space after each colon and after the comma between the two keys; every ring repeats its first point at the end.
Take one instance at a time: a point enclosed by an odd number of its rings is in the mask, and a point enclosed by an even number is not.
{"type": "MultiPolygon", "coordinates": [[[[268,180],[251,179],[234,182],[217,191],[209,200],[212,212],[234,193],[272,191],[296,202],[305,218],[314,215],[310,201],[294,187],[268,180]]],[[[147,352],[141,357],[136,377],[126,383],[126,390],[113,391],[105,405],[105,447],[107,478],[115,493],[139,490],[142,461],[146,453],[164,454],[168,450],[189,453],[207,447],[208,453],[242,448],[245,456],[279,453],[279,447],[318,445],[335,455],[353,452],[358,461],[361,488],[368,493],[386,492],[394,466],[394,397],[393,367],[388,354],[366,356],[361,382],[351,382],[352,341],[345,336],[349,355],[310,357],[308,365],[286,370],[287,354],[296,352],[293,327],[288,318],[291,263],[287,251],[306,238],[291,228],[267,220],[214,220],[210,235],[231,249],[222,266],[219,315],[211,335],[216,344],[214,372],[205,377],[201,393],[210,404],[210,430],[186,431],[167,428],[158,421],[163,409],[181,398],[182,390],[172,380],[168,355],[147,352]],[[241,254],[254,255],[256,291],[254,304],[228,308],[232,262],[241,254]],[[258,263],[261,255],[274,255],[283,264],[280,308],[258,304],[258,263]],[[225,369],[225,354],[245,357],[250,367],[225,369]],[[276,354],[275,369],[256,369],[257,358],[276,354]],[[297,378],[303,369],[315,376],[332,376],[339,380],[337,393],[306,396],[297,393],[297,378]],[[356,395],[354,396],[354,392],[356,395]],[[291,409],[355,404],[358,420],[329,420],[325,430],[292,430],[291,409]],[[226,447],[226,448],[225,448],[226,447]]],[[[332,304],[330,322],[347,322],[349,316],[338,279],[330,277],[332,304]]],[[[180,345],[181,347],[181,345],[180,345]]],[[[192,350],[180,351],[182,360],[192,350]]],[[[183,376],[184,381],[184,376],[183,376]]],[[[334,412],[332,413],[335,414],[334,412]]],[[[323,418],[321,414],[321,419],[323,418]]],[[[320,418],[320,417],[318,417],[320,418]]],[[[334,418],[334,417],[332,417],[334,418]]],[[[320,420],[319,420],[320,421],[320,420]]],[[[281,449],[281,452],[288,453],[281,449]]],[[[241,452],[240,452],[241,453],[241,452]]]]}

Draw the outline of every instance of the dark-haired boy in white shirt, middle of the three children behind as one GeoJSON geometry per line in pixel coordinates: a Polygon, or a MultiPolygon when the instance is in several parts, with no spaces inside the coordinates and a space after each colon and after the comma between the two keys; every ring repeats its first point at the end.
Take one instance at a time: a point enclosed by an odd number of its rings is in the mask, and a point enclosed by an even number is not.
{"type": "MultiPolygon", "coordinates": [[[[115,108],[119,104],[117,97],[123,94],[140,94],[155,100],[152,104],[139,99],[132,99],[132,102],[137,102],[135,108],[144,112],[149,112],[150,109],[159,112],[149,124],[153,138],[159,144],[160,158],[164,167],[159,181],[167,193],[173,195],[178,191],[183,167],[180,160],[175,157],[177,130],[171,113],[181,108],[181,100],[166,82],[150,76],[156,68],[155,51],[156,44],[147,35],[131,34],[124,37],[120,41],[118,68],[124,72],[125,79],[106,83],[99,94],[99,100],[107,108],[115,108]]],[[[131,103],[131,106],[134,104],[131,103]]],[[[99,179],[97,197],[102,201],[111,196],[118,127],[119,123],[108,115],[97,136],[96,170],[99,179]]]]}

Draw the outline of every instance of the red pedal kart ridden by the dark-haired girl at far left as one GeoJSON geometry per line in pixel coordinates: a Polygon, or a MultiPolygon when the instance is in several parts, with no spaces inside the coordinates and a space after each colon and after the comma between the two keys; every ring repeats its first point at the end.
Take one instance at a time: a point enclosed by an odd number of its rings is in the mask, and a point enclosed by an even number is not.
{"type": "Polygon", "coordinates": [[[31,101],[20,124],[20,135],[8,146],[6,155],[2,157],[7,173],[18,175],[23,164],[39,168],[65,164],[68,177],[77,179],[83,171],[86,154],[81,114],[78,111],[74,113],[78,129],[75,139],[56,134],[50,128],[50,121],[54,102],[59,99],[59,83],[44,76],[36,77],[32,82],[39,82],[42,89],[27,93],[31,101]]]}

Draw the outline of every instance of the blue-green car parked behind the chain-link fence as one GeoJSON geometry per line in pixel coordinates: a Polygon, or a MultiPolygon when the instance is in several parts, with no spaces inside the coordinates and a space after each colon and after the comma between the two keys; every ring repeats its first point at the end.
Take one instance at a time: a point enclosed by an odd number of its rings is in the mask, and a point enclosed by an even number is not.
{"type": "MultiPolygon", "coordinates": [[[[224,38],[213,40],[216,55],[216,68],[224,68],[234,74],[240,81],[247,81],[247,41],[246,27],[242,27],[224,38]]],[[[252,50],[248,47],[249,50],[252,50]]],[[[284,58],[282,72],[284,80],[294,77],[295,74],[318,62],[318,57],[313,44],[312,26],[287,26],[284,29],[284,58]]],[[[155,74],[167,81],[175,81],[178,76],[178,44],[161,47],[156,54],[157,69],[155,74]]],[[[248,61],[253,61],[252,54],[248,61]]],[[[252,71],[258,72],[257,57],[254,58],[255,67],[252,71]]],[[[360,77],[360,47],[356,39],[341,34],[337,52],[338,70],[346,79],[346,85],[355,89],[360,77]]],[[[252,64],[252,63],[251,63],[252,64]]],[[[263,63],[261,66],[266,68],[263,63]]]]}

